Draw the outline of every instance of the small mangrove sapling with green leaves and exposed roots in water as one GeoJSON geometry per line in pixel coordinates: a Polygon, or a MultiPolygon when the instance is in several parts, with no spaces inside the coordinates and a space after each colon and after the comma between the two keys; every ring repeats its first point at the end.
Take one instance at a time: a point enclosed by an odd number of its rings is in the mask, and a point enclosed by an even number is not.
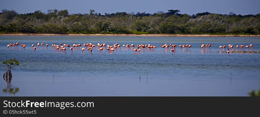
{"type": "Polygon", "coordinates": [[[3,64],[7,66],[7,70],[3,75],[5,82],[7,83],[7,88],[10,87],[12,81],[11,69],[15,66],[18,66],[20,63],[14,59],[3,61],[3,64]]]}

